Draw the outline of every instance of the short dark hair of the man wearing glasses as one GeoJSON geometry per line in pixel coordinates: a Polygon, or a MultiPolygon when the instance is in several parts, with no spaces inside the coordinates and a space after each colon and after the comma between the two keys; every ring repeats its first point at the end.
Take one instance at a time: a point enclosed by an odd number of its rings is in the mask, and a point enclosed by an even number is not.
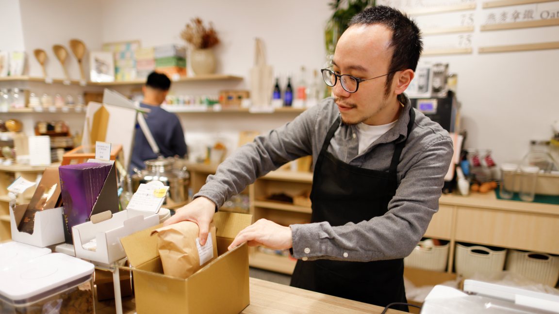
{"type": "Polygon", "coordinates": [[[392,78],[394,78],[394,72],[405,69],[415,71],[417,68],[421,51],[423,51],[421,31],[407,15],[395,8],[386,6],[364,9],[349,21],[348,26],[373,24],[382,24],[392,31],[390,47],[394,52],[389,66],[390,74],[386,79],[386,88],[388,89],[392,78]]]}

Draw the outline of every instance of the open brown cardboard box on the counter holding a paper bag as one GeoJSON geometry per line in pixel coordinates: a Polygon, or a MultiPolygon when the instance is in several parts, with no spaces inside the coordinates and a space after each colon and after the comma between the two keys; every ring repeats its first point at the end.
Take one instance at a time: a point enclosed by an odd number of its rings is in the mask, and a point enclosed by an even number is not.
{"type": "Polygon", "coordinates": [[[163,274],[157,250],[157,237],[150,236],[160,226],[121,239],[134,277],[138,313],[239,313],[250,303],[248,246],[227,251],[240,230],[249,226],[252,216],[217,212],[217,254],[187,279],[163,274]]]}

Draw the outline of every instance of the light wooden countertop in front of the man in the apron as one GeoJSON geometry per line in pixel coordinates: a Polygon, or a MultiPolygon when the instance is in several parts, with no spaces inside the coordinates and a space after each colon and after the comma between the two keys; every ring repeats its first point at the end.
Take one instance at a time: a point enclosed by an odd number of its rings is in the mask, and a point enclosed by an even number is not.
{"type": "MultiPolygon", "coordinates": [[[[249,278],[249,280],[250,305],[241,312],[243,314],[380,314],[384,310],[380,306],[293,288],[262,279],[249,278]]],[[[135,308],[133,298],[123,299],[123,313],[134,314],[136,312],[135,308]]],[[[114,300],[97,303],[96,312],[97,314],[115,313],[114,300]]],[[[404,312],[388,310],[386,313],[404,312]]]]}

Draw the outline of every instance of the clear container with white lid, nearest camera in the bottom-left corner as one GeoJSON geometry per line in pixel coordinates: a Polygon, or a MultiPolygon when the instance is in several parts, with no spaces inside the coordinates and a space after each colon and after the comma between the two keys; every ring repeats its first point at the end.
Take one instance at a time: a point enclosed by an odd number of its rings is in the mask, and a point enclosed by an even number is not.
{"type": "Polygon", "coordinates": [[[94,313],[93,271],[61,253],[0,269],[0,313],[94,313]]]}

